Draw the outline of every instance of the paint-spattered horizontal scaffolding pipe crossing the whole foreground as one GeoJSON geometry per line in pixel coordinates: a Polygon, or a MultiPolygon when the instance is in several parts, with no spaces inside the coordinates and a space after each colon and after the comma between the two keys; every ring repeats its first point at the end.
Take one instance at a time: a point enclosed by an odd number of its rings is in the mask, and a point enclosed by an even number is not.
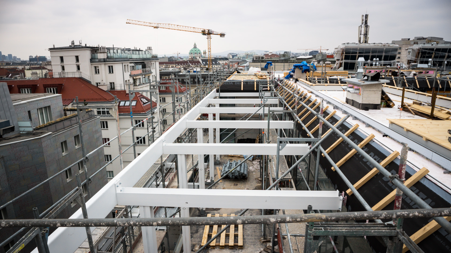
{"type": "MultiPolygon", "coordinates": [[[[245,209],[248,210],[248,209],[245,209]]],[[[106,226],[205,226],[276,224],[300,222],[360,221],[393,218],[427,218],[451,216],[451,208],[423,208],[361,212],[328,212],[313,214],[256,215],[229,217],[181,218],[102,218],[102,219],[18,219],[3,220],[0,227],[106,227],[106,226]]],[[[218,233],[219,235],[219,233],[218,233]]]]}

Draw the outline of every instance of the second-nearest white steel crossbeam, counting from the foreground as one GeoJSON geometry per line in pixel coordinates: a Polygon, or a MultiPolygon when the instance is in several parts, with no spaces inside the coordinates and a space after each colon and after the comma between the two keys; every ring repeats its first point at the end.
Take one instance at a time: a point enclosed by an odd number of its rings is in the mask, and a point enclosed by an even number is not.
{"type": "MultiPolygon", "coordinates": [[[[163,145],[163,154],[250,154],[276,155],[277,144],[263,143],[168,143],[163,145]]],[[[287,144],[281,155],[304,155],[308,144],[287,144]]]]}

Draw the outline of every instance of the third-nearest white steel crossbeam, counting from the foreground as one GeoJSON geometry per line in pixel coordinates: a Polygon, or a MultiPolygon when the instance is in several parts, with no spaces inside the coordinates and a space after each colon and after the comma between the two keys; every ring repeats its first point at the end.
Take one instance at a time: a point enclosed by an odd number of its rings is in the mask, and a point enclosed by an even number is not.
{"type": "MultiPolygon", "coordinates": [[[[285,120],[271,120],[269,121],[269,128],[289,128],[293,129],[295,123],[293,121],[285,120]]],[[[187,120],[186,128],[254,128],[254,129],[267,129],[267,120],[220,120],[220,121],[208,121],[208,120],[187,120]]]]}

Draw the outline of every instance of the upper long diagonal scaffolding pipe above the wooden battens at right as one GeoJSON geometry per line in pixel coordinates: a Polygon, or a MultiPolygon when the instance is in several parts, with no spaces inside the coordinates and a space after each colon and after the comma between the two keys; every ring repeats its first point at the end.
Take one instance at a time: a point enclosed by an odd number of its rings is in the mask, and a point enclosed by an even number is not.
{"type": "MultiPolygon", "coordinates": [[[[282,86],[283,89],[286,89],[282,86]]],[[[288,92],[293,94],[290,90],[286,89],[288,92]]],[[[374,160],[369,154],[365,153],[363,149],[361,149],[357,144],[355,144],[352,140],[350,140],[347,136],[345,136],[340,130],[338,130],[334,125],[332,125],[330,122],[328,122],[325,118],[321,117],[319,113],[315,112],[312,108],[308,107],[307,104],[300,101],[301,104],[303,104],[309,111],[313,113],[313,115],[317,116],[320,120],[322,120],[328,127],[332,129],[332,131],[336,132],[338,136],[340,136],[343,140],[346,141],[353,149],[355,149],[359,154],[361,154],[365,159],[367,159],[370,163],[373,164],[374,167],[377,168],[379,172],[381,172],[382,175],[386,176],[387,178],[391,178],[391,173],[388,172],[382,165],[377,163],[376,160],[374,160]]],[[[349,115],[348,115],[349,116],[349,115]]],[[[338,127],[338,126],[337,126],[338,127]]],[[[329,131],[331,133],[332,131],[329,131]]],[[[329,134],[328,133],[328,134],[329,134]]],[[[324,137],[324,139],[326,136],[324,137]]],[[[417,194],[415,194],[413,191],[409,189],[409,187],[405,186],[404,183],[399,181],[397,178],[392,179],[392,183],[396,185],[396,187],[399,187],[400,190],[402,190],[407,197],[412,199],[419,207],[421,208],[432,208],[428,205],[428,203],[424,202],[423,199],[421,199],[417,194]]],[[[446,230],[446,232],[451,234],[451,224],[449,221],[447,221],[443,217],[434,217],[434,220],[437,221],[437,223],[443,227],[443,229],[446,230]]]]}

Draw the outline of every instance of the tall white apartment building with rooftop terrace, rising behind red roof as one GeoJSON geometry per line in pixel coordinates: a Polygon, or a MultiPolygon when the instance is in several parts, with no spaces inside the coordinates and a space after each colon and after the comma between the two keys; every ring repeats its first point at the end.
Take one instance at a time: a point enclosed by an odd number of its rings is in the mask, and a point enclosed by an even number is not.
{"type": "MultiPolygon", "coordinates": [[[[54,77],[82,77],[102,90],[149,90],[160,80],[158,55],[146,50],[71,45],[49,48],[54,77]]],[[[144,93],[150,97],[149,93],[144,93]]]]}

